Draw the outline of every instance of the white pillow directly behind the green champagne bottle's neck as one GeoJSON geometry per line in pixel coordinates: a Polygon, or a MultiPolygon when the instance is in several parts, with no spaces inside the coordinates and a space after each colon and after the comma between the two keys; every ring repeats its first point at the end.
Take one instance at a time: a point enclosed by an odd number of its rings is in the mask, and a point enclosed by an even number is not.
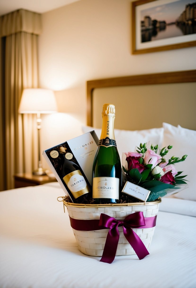
{"type": "MultiPolygon", "coordinates": [[[[82,126],[83,133],[95,130],[98,137],[101,135],[101,129],[93,128],[90,126],[82,126]]],[[[163,142],[163,128],[152,128],[147,130],[120,130],[114,129],[116,144],[120,158],[122,158],[123,152],[134,152],[136,146],[140,143],[150,141],[151,144],[158,144],[160,147],[163,142]]]]}

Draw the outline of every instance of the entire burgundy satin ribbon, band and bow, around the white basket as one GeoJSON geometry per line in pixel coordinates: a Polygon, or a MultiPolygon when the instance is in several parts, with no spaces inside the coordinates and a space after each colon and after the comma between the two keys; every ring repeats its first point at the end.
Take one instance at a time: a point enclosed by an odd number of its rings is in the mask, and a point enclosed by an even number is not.
{"type": "Polygon", "coordinates": [[[123,227],[123,233],[139,259],[149,254],[145,245],[132,228],[152,228],[156,225],[156,217],[144,217],[143,212],[135,212],[128,215],[124,220],[116,220],[101,213],[100,219],[78,220],[70,217],[71,227],[80,231],[94,231],[109,228],[101,262],[112,263],[114,261],[119,240],[118,226],[123,227]]]}

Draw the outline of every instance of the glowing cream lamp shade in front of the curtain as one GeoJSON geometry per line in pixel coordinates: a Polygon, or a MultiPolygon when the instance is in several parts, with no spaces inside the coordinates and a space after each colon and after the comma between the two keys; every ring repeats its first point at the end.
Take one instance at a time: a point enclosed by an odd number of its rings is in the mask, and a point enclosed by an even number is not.
{"type": "Polygon", "coordinates": [[[55,113],[57,103],[54,92],[49,89],[28,88],[22,92],[19,113],[55,113]]]}

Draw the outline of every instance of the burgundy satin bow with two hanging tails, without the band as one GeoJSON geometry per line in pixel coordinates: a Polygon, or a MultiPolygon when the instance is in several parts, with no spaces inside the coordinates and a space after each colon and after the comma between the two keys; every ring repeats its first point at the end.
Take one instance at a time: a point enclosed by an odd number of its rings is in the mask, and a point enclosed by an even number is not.
{"type": "MultiPolygon", "coordinates": [[[[143,212],[135,212],[128,215],[123,221],[116,220],[106,214],[100,215],[99,226],[109,228],[101,262],[112,263],[118,246],[119,231],[118,226],[123,227],[123,233],[127,241],[130,243],[139,259],[143,259],[149,254],[139,236],[132,230],[132,228],[142,228],[145,226],[145,219],[143,212]]],[[[152,226],[151,226],[152,227],[152,226]]],[[[146,227],[145,227],[146,228],[146,227]]]]}

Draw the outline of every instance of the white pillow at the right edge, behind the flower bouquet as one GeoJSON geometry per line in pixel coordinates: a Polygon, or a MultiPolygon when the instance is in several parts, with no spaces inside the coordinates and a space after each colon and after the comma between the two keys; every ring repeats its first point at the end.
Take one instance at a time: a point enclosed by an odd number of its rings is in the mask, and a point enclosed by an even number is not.
{"type": "Polygon", "coordinates": [[[189,187],[174,194],[174,197],[196,200],[196,131],[182,128],[180,125],[175,127],[168,123],[163,123],[163,127],[163,147],[167,147],[168,145],[173,146],[168,152],[167,158],[171,158],[172,156],[181,158],[185,154],[188,155],[185,161],[176,163],[175,168],[177,171],[184,171],[182,175],[188,175],[186,179],[189,180],[187,182],[189,187]]]}

